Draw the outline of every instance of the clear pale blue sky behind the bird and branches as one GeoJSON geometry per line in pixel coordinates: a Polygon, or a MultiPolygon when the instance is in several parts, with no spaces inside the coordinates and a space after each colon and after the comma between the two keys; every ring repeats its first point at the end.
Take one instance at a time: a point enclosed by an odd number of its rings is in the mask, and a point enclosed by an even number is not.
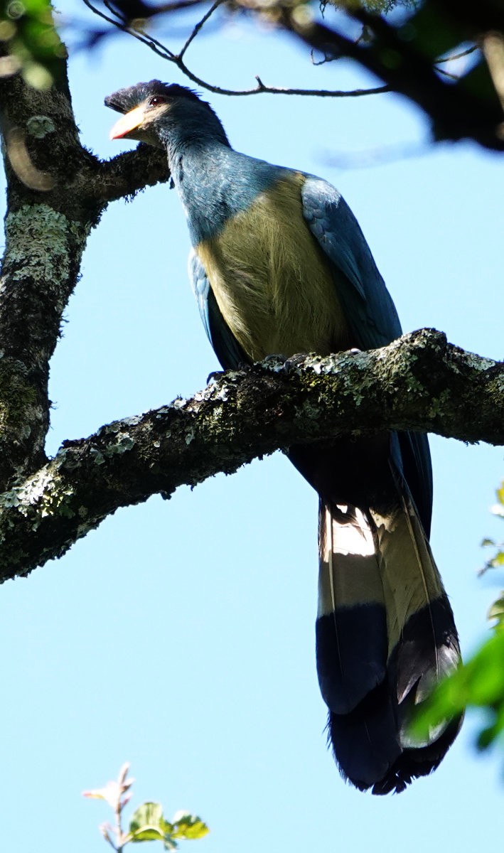
{"type": "MultiPolygon", "coordinates": [[[[84,7],[79,20],[90,22],[84,7]]],[[[68,15],[69,13],[67,13],[68,15]]],[[[180,27],[175,28],[180,38],[180,27]]],[[[349,89],[376,81],[350,63],[314,67],[267,26],[230,21],[188,61],[217,84],[349,89]]],[[[171,44],[177,44],[174,38],[171,44]]],[[[103,97],[142,79],[184,83],[125,37],[73,52],[73,104],[102,158],[114,115],[103,97]]],[[[316,172],[352,206],[403,328],[439,328],[501,357],[504,179],[470,142],[362,169],[353,154],[425,140],[399,96],[322,100],[209,96],[235,148],[316,172]]],[[[188,235],[166,186],[117,202],[90,237],[51,367],[50,453],[64,438],[206,384],[217,361],[188,287],[188,235]]],[[[479,543],[498,537],[488,508],[502,450],[432,439],[432,548],[464,653],[486,635],[501,578],[478,579],[479,543]]],[[[316,495],[279,454],[170,502],[121,510],[62,560],[2,589],[0,767],[3,847],[104,850],[104,804],[81,798],[125,760],[132,804],[189,809],[211,835],[201,853],[475,850],[501,814],[504,756],[478,757],[470,717],[432,777],[374,798],[339,778],[325,746],[315,669],[316,495]]],[[[186,846],[188,846],[186,844],[186,846]]],[[[153,850],[155,848],[153,847],[153,850]]],[[[159,847],[160,849],[160,847],[159,847]]],[[[188,850],[191,850],[188,847],[188,850]]]]}

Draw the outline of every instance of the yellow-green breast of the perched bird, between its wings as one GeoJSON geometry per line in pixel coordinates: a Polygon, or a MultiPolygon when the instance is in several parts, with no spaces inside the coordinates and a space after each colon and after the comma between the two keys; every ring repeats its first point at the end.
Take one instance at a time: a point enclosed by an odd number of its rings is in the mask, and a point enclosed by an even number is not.
{"type": "Polygon", "coordinates": [[[253,361],[351,345],[330,262],[304,221],[304,180],[282,177],[196,250],[224,321],[253,361]]]}

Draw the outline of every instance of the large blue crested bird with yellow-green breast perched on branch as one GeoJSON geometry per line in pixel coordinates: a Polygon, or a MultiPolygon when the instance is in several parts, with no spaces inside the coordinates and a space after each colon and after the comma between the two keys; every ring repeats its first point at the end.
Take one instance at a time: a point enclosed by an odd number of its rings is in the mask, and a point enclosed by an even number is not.
{"type": "MultiPolygon", "coordinates": [[[[230,147],[211,107],[159,80],[106,98],[124,115],[112,139],[165,148],[193,245],[189,273],[223,368],[372,349],[401,326],[356,218],[319,177],[230,147]]],[[[300,445],[288,451],[316,489],[316,662],[339,770],[362,791],[403,791],[437,767],[460,720],[414,739],[408,718],[460,659],[432,558],[426,436],[300,445]]]]}

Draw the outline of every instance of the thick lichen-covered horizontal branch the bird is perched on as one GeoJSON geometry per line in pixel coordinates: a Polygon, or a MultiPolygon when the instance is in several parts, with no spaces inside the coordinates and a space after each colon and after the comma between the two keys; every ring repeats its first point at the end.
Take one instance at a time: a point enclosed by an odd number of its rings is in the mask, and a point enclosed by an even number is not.
{"type": "Polygon", "coordinates": [[[0,496],[0,577],[61,556],[117,508],[297,442],[417,429],[504,444],[504,364],[424,329],[331,357],[273,357],[191,399],[65,442],[0,496]]]}

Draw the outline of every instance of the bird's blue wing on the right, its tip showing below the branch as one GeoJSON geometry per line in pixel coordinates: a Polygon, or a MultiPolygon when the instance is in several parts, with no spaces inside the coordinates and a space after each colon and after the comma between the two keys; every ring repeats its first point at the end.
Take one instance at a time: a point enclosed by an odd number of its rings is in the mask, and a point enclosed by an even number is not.
{"type": "MultiPolygon", "coordinates": [[[[350,207],[337,189],[314,176],[306,178],[302,201],[311,233],[336,268],[338,296],[352,339],[363,350],[389,344],[402,334],[401,323],[350,207]],[[341,272],[345,275],[341,276],[341,272]]],[[[408,482],[428,536],[432,514],[432,467],[427,437],[418,432],[397,433],[391,452],[408,482]]]]}

